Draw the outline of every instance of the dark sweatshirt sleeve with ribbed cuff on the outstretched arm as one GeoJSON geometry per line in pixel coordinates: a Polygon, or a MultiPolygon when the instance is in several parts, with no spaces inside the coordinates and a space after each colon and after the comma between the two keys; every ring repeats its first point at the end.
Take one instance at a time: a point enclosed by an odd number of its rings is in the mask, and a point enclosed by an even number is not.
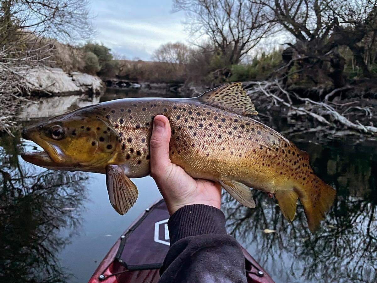
{"type": "Polygon", "coordinates": [[[188,205],[168,221],[170,249],[160,270],[166,282],[247,282],[239,243],[225,229],[225,216],[208,205],[188,205]]]}

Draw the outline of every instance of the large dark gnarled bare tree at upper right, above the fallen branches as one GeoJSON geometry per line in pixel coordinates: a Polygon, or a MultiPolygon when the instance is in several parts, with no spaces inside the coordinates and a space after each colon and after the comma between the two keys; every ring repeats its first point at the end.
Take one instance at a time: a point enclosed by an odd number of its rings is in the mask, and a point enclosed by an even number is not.
{"type": "MultiPolygon", "coordinates": [[[[296,65],[299,80],[345,85],[345,59],[339,46],[347,46],[365,77],[371,77],[363,57],[362,41],[377,31],[377,0],[253,0],[270,9],[270,21],[281,25],[295,38],[283,54],[288,71],[296,65]]],[[[287,72],[285,73],[287,74],[287,72]]]]}

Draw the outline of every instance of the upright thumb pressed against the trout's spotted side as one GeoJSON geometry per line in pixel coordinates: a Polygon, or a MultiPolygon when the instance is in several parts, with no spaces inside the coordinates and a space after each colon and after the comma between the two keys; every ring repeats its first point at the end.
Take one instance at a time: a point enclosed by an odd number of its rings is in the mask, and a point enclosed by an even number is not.
{"type": "Polygon", "coordinates": [[[152,175],[166,172],[171,165],[169,159],[170,124],[164,115],[157,115],[153,120],[150,137],[150,168],[152,175]]]}

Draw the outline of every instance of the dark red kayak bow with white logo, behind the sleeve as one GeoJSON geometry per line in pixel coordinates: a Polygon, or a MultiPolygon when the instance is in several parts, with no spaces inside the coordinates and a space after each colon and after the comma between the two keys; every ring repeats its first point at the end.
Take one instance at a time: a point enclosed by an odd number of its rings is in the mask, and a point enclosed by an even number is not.
{"type": "MultiPolygon", "coordinates": [[[[89,283],[158,282],[159,268],[169,250],[164,200],[147,208],[116,241],[89,283]]],[[[273,283],[268,273],[242,248],[248,282],[273,283]]]]}

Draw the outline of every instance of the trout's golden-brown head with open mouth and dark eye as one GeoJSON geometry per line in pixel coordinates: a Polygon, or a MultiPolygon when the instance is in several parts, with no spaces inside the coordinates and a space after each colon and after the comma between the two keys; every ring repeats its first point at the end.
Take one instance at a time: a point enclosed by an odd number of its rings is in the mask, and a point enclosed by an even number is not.
{"type": "Polygon", "coordinates": [[[95,111],[63,114],[23,129],[26,140],[42,152],[24,152],[21,157],[35,165],[57,170],[104,172],[120,147],[118,133],[95,111]]]}

